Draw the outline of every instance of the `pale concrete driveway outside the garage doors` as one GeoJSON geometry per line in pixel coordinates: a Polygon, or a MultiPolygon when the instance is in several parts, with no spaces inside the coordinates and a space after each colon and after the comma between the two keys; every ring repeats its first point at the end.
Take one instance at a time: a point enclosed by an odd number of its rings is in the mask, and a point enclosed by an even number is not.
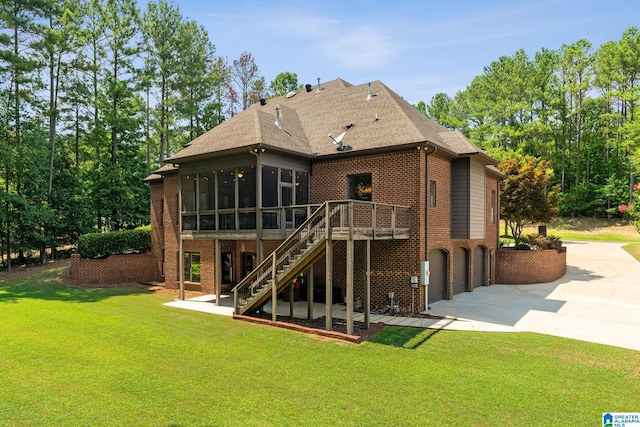
{"type": "Polygon", "coordinates": [[[567,274],[552,283],[493,285],[430,304],[472,330],[530,331],[640,350],[640,262],[622,243],[565,242],[567,274]]]}

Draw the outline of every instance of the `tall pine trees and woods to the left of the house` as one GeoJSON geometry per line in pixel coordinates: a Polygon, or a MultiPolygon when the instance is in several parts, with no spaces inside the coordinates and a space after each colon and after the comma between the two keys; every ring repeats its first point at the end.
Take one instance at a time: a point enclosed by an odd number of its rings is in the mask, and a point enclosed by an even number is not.
{"type": "Polygon", "coordinates": [[[0,4],[0,260],[149,220],[143,179],[268,93],[167,0],[0,4]]]}

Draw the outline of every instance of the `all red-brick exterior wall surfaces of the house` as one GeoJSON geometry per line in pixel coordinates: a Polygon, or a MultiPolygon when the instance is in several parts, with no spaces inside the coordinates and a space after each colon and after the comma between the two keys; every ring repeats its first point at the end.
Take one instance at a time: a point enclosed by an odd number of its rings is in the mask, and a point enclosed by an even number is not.
{"type": "MultiPolygon", "coordinates": [[[[420,262],[427,259],[428,251],[438,249],[447,254],[448,283],[447,297],[453,297],[453,254],[456,248],[464,248],[468,253],[469,265],[468,291],[473,289],[476,248],[481,247],[485,254],[484,270],[487,273],[484,284],[493,283],[488,277],[492,271],[489,266],[489,252],[497,248],[497,224],[490,221],[491,190],[497,190],[496,178],[486,178],[487,197],[487,232],[484,239],[451,240],[451,162],[440,153],[426,155],[424,150],[415,148],[384,154],[361,157],[345,155],[335,159],[315,162],[311,171],[310,201],[323,203],[325,200],[342,200],[348,196],[347,180],[349,175],[370,173],[372,176],[372,200],[379,203],[390,203],[411,206],[412,236],[408,240],[372,241],[371,242],[371,302],[372,306],[384,306],[388,303],[388,293],[394,292],[396,300],[404,306],[409,306],[412,294],[415,297],[416,308],[424,309],[424,287],[419,287],[415,293],[410,286],[410,277],[419,276],[420,262]],[[426,171],[426,173],[425,173],[426,171]],[[436,206],[427,206],[430,181],[436,182],[436,206]]],[[[155,184],[152,184],[155,185],[155,184]]],[[[154,229],[154,253],[161,258],[161,251],[156,246],[163,245],[164,249],[164,279],[166,286],[179,286],[178,260],[178,177],[165,176],[162,192],[154,191],[152,187],[152,224],[154,210],[158,211],[155,203],[163,194],[164,219],[156,236],[154,229]],[[162,194],[160,194],[162,193],[162,194]]],[[[159,187],[158,187],[159,188],[159,187]]],[[[499,193],[496,193],[497,195],[499,193]]],[[[499,207],[496,206],[496,210],[499,207]]],[[[156,221],[157,222],[157,221],[156,221]]],[[[263,242],[264,257],[268,256],[280,242],[263,242]]],[[[233,252],[234,282],[241,277],[241,254],[243,251],[255,252],[255,241],[223,241],[221,252],[233,252]]],[[[201,253],[202,262],[202,290],[215,290],[215,260],[213,241],[185,241],[185,251],[201,253]]],[[[364,242],[355,243],[355,277],[354,295],[361,297],[364,285],[364,242]]],[[[334,249],[334,286],[342,288],[345,294],[346,282],[346,245],[338,242],[334,249]]],[[[158,265],[162,265],[161,261],[158,265]]],[[[159,268],[159,267],[158,267],[159,268]]],[[[325,260],[321,258],[314,265],[314,279],[317,287],[325,282],[325,260]]],[[[226,290],[226,288],[225,288],[226,290]]]]}

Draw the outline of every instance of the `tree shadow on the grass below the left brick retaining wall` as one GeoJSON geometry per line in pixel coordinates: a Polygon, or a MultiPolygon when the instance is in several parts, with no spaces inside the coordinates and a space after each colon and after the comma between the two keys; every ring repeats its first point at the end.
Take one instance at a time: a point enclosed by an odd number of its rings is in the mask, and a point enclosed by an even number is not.
{"type": "Polygon", "coordinates": [[[98,302],[122,295],[148,294],[144,288],[82,288],[63,284],[60,274],[64,267],[53,267],[42,273],[0,281],[0,304],[21,299],[65,302],[98,302]]]}

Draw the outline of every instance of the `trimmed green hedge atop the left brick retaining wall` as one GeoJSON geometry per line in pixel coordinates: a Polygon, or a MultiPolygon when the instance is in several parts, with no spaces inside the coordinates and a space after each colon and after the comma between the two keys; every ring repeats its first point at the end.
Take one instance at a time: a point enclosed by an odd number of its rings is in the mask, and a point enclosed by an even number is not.
{"type": "Polygon", "coordinates": [[[78,239],[78,253],[83,258],[104,258],[109,255],[151,250],[151,227],[109,233],[83,234],[78,239]]]}

